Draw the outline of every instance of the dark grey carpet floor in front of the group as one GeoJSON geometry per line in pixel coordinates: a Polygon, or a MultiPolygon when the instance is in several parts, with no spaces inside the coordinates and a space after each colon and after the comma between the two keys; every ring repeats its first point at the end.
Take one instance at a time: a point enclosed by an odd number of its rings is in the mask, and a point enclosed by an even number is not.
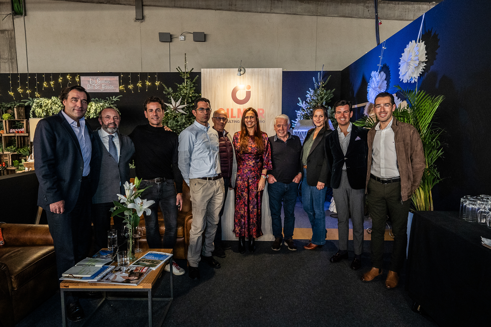
{"type": "MultiPolygon", "coordinates": [[[[337,241],[327,241],[322,249],[314,251],[301,247],[307,242],[297,241],[297,251],[285,246],[273,251],[272,242],[256,242],[256,253],[244,255],[237,252],[237,242],[230,242],[232,249],[225,251],[227,257],[217,258],[220,269],[200,264],[199,281],[188,278],[185,260],[176,260],[186,268],[186,274],[174,276],[174,300],[163,326],[436,326],[411,311],[412,301],[404,289],[404,273],[401,285],[392,290],[384,287],[385,273],[384,278],[370,283],[360,280],[370,265],[369,241],[365,241],[364,267],[359,271],[349,268],[353,252],[350,260],[328,262],[337,250],[337,241]]],[[[389,253],[391,247],[392,242],[385,242],[384,251],[389,253]]],[[[384,260],[387,267],[388,254],[384,260]]],[[[167,296],[168,277],[164,272],[155,284],[155,297],[167,296]]],[[[81,299],[87,313],[97,302],[97,299],[81,299]]],[[[162,317],[165,305],[164,301],[154,301],[154,326],[162,317]]],[[[147,310],[146,301],[109,301],[85,326],[147,326],[147,310]]],[[[69,326],[83,323],[69,323],[69,326]]],[[[37,326],[61,326],[59,293],[17,325],[37,326]]]]}

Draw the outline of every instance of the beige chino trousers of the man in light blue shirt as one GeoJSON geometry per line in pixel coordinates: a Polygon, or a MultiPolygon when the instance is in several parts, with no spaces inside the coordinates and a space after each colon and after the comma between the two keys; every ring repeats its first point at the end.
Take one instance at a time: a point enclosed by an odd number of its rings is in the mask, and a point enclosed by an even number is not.
{"type": "Polygon", "coordinates": [[[215,249],[213,240],[217,233],[219,213],[223,205],[225,189],[223,187],[223,178],[215,181],[193,178],[189,181],[189,187],[192,203],[192,223],[188,262],[191,267],[198,267],[201,259],[200,253],[209,257],[215,249]],[[201,247],[205,229],[205,243],[201,247]]]}

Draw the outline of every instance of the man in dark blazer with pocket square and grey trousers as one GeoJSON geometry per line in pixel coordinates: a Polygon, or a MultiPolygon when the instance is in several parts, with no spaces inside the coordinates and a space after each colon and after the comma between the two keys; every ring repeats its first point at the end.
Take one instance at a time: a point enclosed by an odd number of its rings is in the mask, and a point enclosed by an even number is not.
{"type": "Polygon", "coordinates": [[[363,218],[365,206],[365,181],[367,173],[367,133],[350,122],[353,111],[350,101],[339,100],[334,104],[334,116],[338,123],[337,133],[329,135],[332,154],[331,187],[338,213],[339,250],[329,261],[348,259],[349,218],[353,222],[353,248],[355,258],[351,269],[361,268],[363,251],[363,218]]]}

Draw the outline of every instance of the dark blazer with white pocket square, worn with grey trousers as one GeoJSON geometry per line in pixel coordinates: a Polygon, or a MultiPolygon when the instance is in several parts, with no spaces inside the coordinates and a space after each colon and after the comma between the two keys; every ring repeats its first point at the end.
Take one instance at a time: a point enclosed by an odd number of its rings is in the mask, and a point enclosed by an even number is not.
{"type": "Polygon", "coordinates": [[[343,154],[343,149],[341,148],[341,144],[339,144],[337,130],[329,135],[326,142],[326,146],[329,147],[327,152],[330,152],[332,155],[331,187],[333,189],[337,189],[341,183],[341,172],[344,163],[346,163],[346,174],[351,188],[354,190],[365,188],[368,130],[352,125],[350,134],[350,144],[348,144],[346,155],[343,154]]]}

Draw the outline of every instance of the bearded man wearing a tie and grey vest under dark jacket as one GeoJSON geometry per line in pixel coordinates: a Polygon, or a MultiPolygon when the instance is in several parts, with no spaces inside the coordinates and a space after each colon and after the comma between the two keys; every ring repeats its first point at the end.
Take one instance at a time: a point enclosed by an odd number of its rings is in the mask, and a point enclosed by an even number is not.
{"type": "MultiPolygon", "coordinates": [[[[108,246],[112,201],[118,201],[116,194],[125,194],[124,184],[130,181],[130,160],[135,154],[135,146],[130,137],[118,132],[121,117],[113,108],[105,108],[99,113],[99,127],[94,134],[101,153],[101,164],[94,171],[92,188],[92,223],[94,238],[98,249],[108,246]]],[[[113,217],[114,226],[122,236],[123,218],[113,217]]]]}

